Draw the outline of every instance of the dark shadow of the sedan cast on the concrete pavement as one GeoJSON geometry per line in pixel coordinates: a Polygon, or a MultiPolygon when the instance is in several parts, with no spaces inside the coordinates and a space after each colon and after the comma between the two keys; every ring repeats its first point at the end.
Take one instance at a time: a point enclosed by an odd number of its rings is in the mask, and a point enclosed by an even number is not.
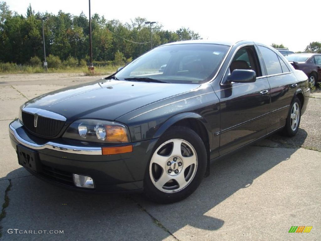
{"type": "MultiPolygon", "coordinates": [[[[171,234],[186,226],[218,230],[224,220],[219,213],[216,217],[213,209],[253,185],[256,178],[288,160],[296,150],[246,147],[211,163],[211,174],[190,197],[167,205],[152,203],[141,194],[88,194],[65,190],[33,176],[15,178],[11,180],[10,203],[1,225],[3,230],[65,230],[63,235],[46,236],[46,240],[163,240],[173,238],[171,234]]],[[[19,169],[8,176],[14,176],[19,169]]],[[[243,208],[246,200],[239,207],[243,208]]],[[[3,231],[4,240],[12,237],[3,231]]],[[[28,235],[22,237],[31,239],[28,235]]]]}

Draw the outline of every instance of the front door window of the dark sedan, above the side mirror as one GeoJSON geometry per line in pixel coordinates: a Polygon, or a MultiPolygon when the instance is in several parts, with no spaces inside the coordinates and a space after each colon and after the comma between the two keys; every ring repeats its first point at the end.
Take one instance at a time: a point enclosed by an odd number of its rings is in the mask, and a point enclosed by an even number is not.
{"type": "Polygon", "coordinates": [[[262,76],[259,70],[258,58],[256,56],[256,51],[253,46],[246,46],[239,49],[231,64],[230,73],[235,69],[249,69],[256,72],[256,76],[262,76]]]}

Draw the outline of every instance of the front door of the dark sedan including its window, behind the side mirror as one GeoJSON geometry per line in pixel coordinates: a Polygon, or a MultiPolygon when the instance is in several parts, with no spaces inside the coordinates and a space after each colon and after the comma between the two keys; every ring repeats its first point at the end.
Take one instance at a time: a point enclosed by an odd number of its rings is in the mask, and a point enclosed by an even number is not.
{"type": "Polygon", "coordinates": [[[254,45],[240,48],[232,58],[223,80],[234,69],[251,69],[256,72],[256,81],[221,84],[215,90],[221,106],[220,155],[266,134],[270,114],[270,86],[267,78],[262,76],[260,66],[254,45]]]}

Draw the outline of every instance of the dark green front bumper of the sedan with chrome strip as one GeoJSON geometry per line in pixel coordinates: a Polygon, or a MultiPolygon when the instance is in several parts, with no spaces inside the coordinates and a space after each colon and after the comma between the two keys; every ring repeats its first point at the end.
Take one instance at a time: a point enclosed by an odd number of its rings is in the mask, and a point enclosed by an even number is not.
{"type": "MultiPolygon", "coordinates": [[[[88,142],[57,138],[55,141],[31,135],[15,120],[9,125],[12,146],[17,145],[36,150],[41,168],[39,172],[30,173],[44,181],[66,188],[88,192],[120,192],[143,189],[143,179],[158,139],[130,143],[133,152],[102,155],[101,144],[91,146],[88,142]],[[72,174],[92,177],[94,189],[79,188],[74,185],[72,174]]],[[[128,145],[128,143],[126,144],[128,145]]],[[[104,146],[121,146],[106,144],[104,146]]]]}

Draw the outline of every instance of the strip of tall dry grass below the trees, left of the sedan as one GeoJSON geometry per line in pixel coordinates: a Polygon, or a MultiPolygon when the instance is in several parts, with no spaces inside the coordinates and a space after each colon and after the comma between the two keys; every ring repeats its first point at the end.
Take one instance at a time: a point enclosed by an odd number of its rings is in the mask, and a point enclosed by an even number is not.
{"type": "Polygon", "coordinates": [[[108,65],[97,66],[94,72],[90,72],[88,67],[81,66],[61,66],[59,68],[48,68],[48,71],[41,66],[17,65],[15,63],[1,63],[0,74],[34,74],[34,73],[77,73],[82,75],[106,75],[117,71],[120,66],[108,65]]]}

